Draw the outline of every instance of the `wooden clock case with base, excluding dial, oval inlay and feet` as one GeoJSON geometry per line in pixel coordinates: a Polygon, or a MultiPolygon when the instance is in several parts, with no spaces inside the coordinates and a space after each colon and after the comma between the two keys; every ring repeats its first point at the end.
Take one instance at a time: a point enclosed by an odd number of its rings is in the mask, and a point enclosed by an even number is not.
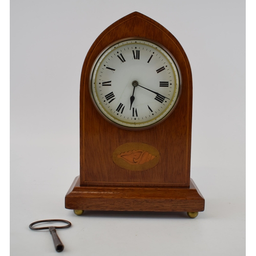
{"type": "MultiPolygon", "coordinates": [[[[79,210],[187,211],[204,210],[204,199],[190,179],[192,76],[178,40],[155,20],[131,13],[106,28],[84,60],[80,82],[80,176],[76,177],[65,207],[79,210]],[[140,131],[121,129],[97,112],[89,92],[93,63],[113,42],[141,37],[165,47],[176,59],[182,92],[174,112],[162,123],[140,131]],[[134,171],[112,159],[125,143],[145,143],[160,153],[158,164],[134,171]]],[[[136,148],[135,148],[136,149],[136,148]]]]}

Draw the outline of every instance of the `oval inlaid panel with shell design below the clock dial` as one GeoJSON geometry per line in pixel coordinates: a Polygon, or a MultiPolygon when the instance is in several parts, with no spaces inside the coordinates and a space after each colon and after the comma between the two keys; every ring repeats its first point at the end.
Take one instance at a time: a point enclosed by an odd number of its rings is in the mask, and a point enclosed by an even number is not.
{"type": "Polygon", "coordinates": [[[141,171],[156,166],[160,161],[160,153],[150,144],[130,142],[117,147],[112,159],[123,169],[141,171]]]}

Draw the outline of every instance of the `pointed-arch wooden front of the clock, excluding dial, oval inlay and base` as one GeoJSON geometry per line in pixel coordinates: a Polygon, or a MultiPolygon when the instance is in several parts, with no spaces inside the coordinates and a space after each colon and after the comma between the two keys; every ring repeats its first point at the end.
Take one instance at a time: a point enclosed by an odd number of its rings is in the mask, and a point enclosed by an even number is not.
{"type": "Polygon", "coordinates": [[[83,63],[80,82],[80,185],[189,187],[192,115],[192,77],[186,54],[163,26],[135,12],[106,28],[95,40],[83,63]],[[89,92],[90,72],[100,52],[113,42],[141,37],[157,41],[172,53],[182,76],[176,109],[165,121],[143,131],[114,126],[96,111],[89,92]],[[160,139],[161,138],[161,139],[160,139]],[[143,142],[157,148],[160,162],[143,172],[124,170],[112,161],[124,143],[143,142]]]}

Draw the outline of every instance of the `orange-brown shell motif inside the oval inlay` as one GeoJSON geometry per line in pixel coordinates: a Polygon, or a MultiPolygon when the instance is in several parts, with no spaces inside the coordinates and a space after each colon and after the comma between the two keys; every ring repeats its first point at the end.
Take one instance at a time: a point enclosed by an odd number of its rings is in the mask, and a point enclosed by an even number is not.
{"type": "Polygon", "coordinates": [[[130,164],[143,164],[155,158],[152,154],[143,150],[132,150],[121,153],[117,156],[130,164]]]}

